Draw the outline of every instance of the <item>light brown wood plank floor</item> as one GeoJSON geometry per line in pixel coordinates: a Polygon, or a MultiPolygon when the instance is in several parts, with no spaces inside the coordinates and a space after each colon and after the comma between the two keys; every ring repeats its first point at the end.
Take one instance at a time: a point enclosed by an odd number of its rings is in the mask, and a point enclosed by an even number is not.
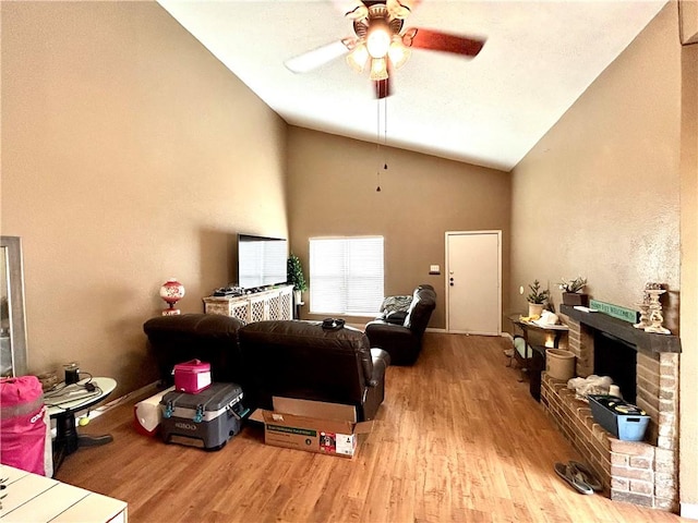
{"type": "Polygon", "coordinates": [[[123,404],[84,429],[115,441],[68,457],[57,478],[127,501],[132,523],[684,521],[561,481],[553,464],[579,455],[506,366],[506,345],[428,333],[414,366],[388,368],[353,460],[267,447],[252,426],[219,452],[165,445],[123,404]]]}

